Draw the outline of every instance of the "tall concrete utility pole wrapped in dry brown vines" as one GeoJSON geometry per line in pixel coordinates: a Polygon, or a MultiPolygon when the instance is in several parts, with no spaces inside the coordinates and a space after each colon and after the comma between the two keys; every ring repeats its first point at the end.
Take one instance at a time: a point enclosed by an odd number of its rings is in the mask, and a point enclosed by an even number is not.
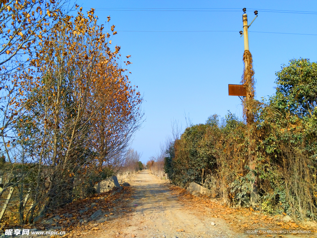
{"type": "MultiPolygon", "coordinates": [[[[255,161],[255,122],[254,122],[254,116],[253,116],[253,108],[254,108],[254,80],[253,80],[253,74],[254,71],[252,69],[252,55],[249,51],[249,34],[248,34],[248,28],[253,23],[253,21],[256,19],[258,12],[254,11],[254,14],[256,17],[253,19],[250,25],[248,25],[248,16],[246,14],[246,9],[243,9],[243,33],[240,31],[241,36],[244,35],[244,54],[243,54],[243,60],[244,60],[244,87],[246,89],[247,95],[244,100],[244,111],[245,116],[247,119],[247,129],[248,129],[248,141],[249,141],[249,168],[250,170],[254,170],[256,168],[256,161],[255,161]]],[[[251,177],[251,206],[255,207],[258,205],[258,191],[257,191],[257,184],[256,184],[256,176],[252,172],[251,177]]]]}

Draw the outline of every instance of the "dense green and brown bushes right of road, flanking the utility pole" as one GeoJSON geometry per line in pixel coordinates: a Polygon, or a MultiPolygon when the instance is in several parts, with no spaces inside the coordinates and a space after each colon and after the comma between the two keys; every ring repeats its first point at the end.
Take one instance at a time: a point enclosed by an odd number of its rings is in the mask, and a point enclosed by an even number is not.
{"type": "Polygon", "coordinates": [[[250,171],[247,127],[230,112],[191,125],[166,151],[165,173],[172,183],[192,181],[233,207],[250,206],[256,175],[259,206],[267,214],[316,218],[317,65],[292,60],[276,73],[275,95],[254,100],[256,169],[250,171]]]}

